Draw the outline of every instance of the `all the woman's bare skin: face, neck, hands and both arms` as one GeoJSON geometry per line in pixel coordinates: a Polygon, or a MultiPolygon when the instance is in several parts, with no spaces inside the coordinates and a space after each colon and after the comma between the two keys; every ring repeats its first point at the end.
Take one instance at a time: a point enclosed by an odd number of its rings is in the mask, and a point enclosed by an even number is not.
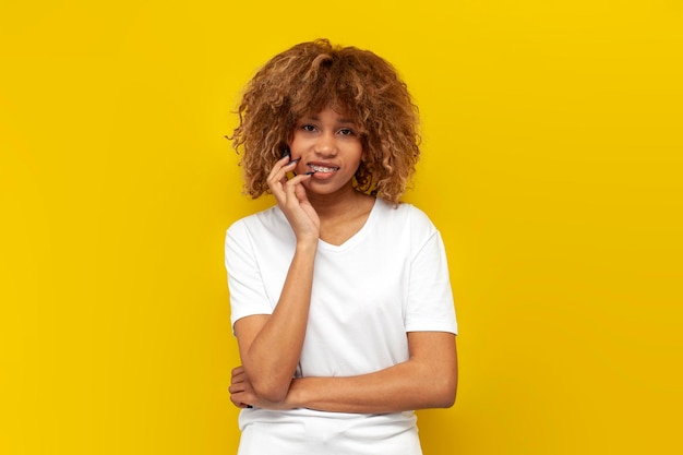
{"type": "Polygon", "coordinates": [[[317,240],[344,243],[363,226],[374,204],[374,197],[351,183],[363,157],[357,131],[329,108],[304,117],[289,144],[291,158],[277,161],[268,176],[297,246],[273,314],[235,323],[242,366],[232,370],[229,391],[238,407],[393,412],[455,402],[455,336],[442,332],[408,333],[409,359],[378,372],[292,379],[305,335],[317,240]],[[287,179],[292,171],[296,176],[287,179]]]}

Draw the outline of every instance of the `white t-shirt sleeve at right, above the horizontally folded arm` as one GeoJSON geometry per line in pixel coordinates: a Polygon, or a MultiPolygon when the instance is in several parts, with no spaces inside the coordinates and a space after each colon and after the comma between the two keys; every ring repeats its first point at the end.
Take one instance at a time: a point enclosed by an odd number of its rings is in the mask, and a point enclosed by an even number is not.
{"type": "Polygon", "coordinates": [[[431,223],[430,227],[411,259],[406,331],[457,334],[445,248],[431,223]]]}

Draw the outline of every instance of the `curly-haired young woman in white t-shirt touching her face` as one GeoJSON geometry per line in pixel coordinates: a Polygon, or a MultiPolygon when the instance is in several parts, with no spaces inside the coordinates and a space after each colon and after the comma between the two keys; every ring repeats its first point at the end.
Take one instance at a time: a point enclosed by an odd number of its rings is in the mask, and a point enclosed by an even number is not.
{"type": "Polygon", "coordinates": [[[457,324],[440,234],[399,201],[420,155],[405,83],[303,43],[239,116],[245,192],[277,201],[226,236],[239,454],[421,454],[414,410],[453,405],[457,324]]]}

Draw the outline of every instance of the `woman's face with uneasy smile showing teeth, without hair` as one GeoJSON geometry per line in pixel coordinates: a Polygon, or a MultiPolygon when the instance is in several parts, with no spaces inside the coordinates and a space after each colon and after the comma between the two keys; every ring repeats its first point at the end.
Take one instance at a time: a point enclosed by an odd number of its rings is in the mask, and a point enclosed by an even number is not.
{"type": "Polygon", "coordinates": [[[299,119],[289,144],[291,159],[301,158],[296,172],[314,171],[303,185],[310,192],[352,191],[351,179],[363,154],[358,125],[326,108],[299,119]]]}

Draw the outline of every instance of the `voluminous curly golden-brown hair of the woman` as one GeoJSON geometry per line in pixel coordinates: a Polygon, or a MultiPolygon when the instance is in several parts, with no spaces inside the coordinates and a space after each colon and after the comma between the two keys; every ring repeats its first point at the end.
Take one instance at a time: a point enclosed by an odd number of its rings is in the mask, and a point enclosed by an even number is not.
{"type": "Polygon", "coordinates": [[[249,82],[232,146],[243,155],[244,193],[269,193],[266,178],[305,115],[332,108],[360,130],[364,158],[358,191],[398,203],[420,157],[418,108],[394,67],[375,53],[301,43],[278,53],[249,82]]]}

